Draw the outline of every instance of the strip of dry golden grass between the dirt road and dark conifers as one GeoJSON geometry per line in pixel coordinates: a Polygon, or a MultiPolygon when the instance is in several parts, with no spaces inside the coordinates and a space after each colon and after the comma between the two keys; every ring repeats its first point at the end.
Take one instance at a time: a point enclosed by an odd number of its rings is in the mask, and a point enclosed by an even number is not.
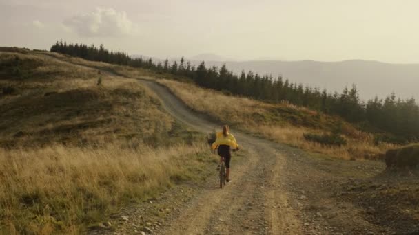
{"type": "Polygon", "coordinates": [[[322,115],[287,103],[267,104],[248,98],[225,96],[220,92],[173,80],[159,82],[169,87],[192,109],[206,113],[220,122],[312,152],[340,159],[374,159],[379,153],[395,147],[392,144],[375,145],[374,138],[369,133],[358,131],[337,117],[322,115]],[[277,109],[278,113],[272,112],[272,109],[277,109]],[[281,111],[287,111],[288,115],[292,113],[292,116],[283,115],[281,111]],[[296,117],[302,117],[302,121],[295,122],[296,117]],[[307,142],[303,137],[304,133],[329,132],[337,124],[342,126],[347,139],[345,146],[323,146],[307,142]]]}

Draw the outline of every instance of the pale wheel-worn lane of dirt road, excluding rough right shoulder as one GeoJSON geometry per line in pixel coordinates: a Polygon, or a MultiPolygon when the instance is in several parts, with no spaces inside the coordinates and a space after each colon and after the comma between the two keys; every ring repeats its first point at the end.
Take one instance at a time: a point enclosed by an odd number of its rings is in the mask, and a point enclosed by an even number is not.
{"type": "MultiPolygon", "coordinates": [[[[181,122],[210,133],[218,124],[192,113],[167,88],[142,81],[163,101],[165,109],[181,122]]],[[[283,187],[286,159],[274,144],[232,130],[249,156],[232,166],[232,183],[223,190],[210,182],[190,207],[161,234],[299,234],[303,223],[290,206],[283,187]]],[[[214,170],[215,171],[215,170],[214,170]]],[[[214,174],[216,175],[216,174],[214,174]]]]}

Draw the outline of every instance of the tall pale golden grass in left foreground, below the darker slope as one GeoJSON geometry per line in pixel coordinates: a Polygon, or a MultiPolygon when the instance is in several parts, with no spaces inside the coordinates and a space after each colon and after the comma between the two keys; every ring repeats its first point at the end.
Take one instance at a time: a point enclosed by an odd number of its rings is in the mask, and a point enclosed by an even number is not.
{"type": "Polygon", "coordinates": [[[115,208],[196,179],[212,157],[203,144],[0,149],[0,233],[77,234],[115,208]]]}

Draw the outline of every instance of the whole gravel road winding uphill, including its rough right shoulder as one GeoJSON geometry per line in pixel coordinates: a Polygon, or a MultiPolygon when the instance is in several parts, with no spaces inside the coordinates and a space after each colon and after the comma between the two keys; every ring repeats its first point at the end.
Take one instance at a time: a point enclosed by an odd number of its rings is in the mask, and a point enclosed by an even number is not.
{"type": "MultiPolygon", "coordinates": [[[[210,133],[221,127],[192,111],[167,87],[150,79],[139,78],[139,82],[156,93],[168,113],[197,131],[210,133]]],[[[232,133],[249,153],[232,165],[233,181],[222,190],[218,188],[214,166],[214,179],[207,181],[186,205],[181,205],[178,214],[165,221],[155,234],[382,234],[389,231],[367,221],[362,208],[334,195],[332,188],[338,186],[337,182],[347,180],[347,177],[336,177],[334,170],[338,165],[308,157],[303,150],[285,144],[236,130],[232,133]]],[[[135,234],[119,227],[115,233],[135,234]]]]}

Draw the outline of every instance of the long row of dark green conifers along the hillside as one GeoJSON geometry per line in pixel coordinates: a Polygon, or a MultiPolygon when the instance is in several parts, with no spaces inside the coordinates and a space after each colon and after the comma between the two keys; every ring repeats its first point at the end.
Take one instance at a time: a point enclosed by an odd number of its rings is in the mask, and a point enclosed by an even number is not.
{"type": "MultiPolygon", "coordinates": [[[[181,58],[155,63],[151,58],[132,58],[123,52],[110,52],[103,45],[67,44],[62,41],[52,45],[51,52],[77,56],[86,60],[117,65],[128,65],[153,71],[184,76],[205,88],[223,91],[236,96],[246,96],[267,102],[289,102],[323,113],[338,115],[348,122],[369,126],[375,131],[386,131],[398,137],[398,142],[415,142],[419,138],[419,107],[414,98],[402,100],[394,94],[385,99],[374,98],[363,102],[356,85],[345,87],[342,93],[330,93],[326,89],[296,84],[281,76],[260,75],[249,71],[234,74],[225,65],[198,66],[181,58]]],[[[391,141],[387,138],[384,141],[391,141]]]]}

